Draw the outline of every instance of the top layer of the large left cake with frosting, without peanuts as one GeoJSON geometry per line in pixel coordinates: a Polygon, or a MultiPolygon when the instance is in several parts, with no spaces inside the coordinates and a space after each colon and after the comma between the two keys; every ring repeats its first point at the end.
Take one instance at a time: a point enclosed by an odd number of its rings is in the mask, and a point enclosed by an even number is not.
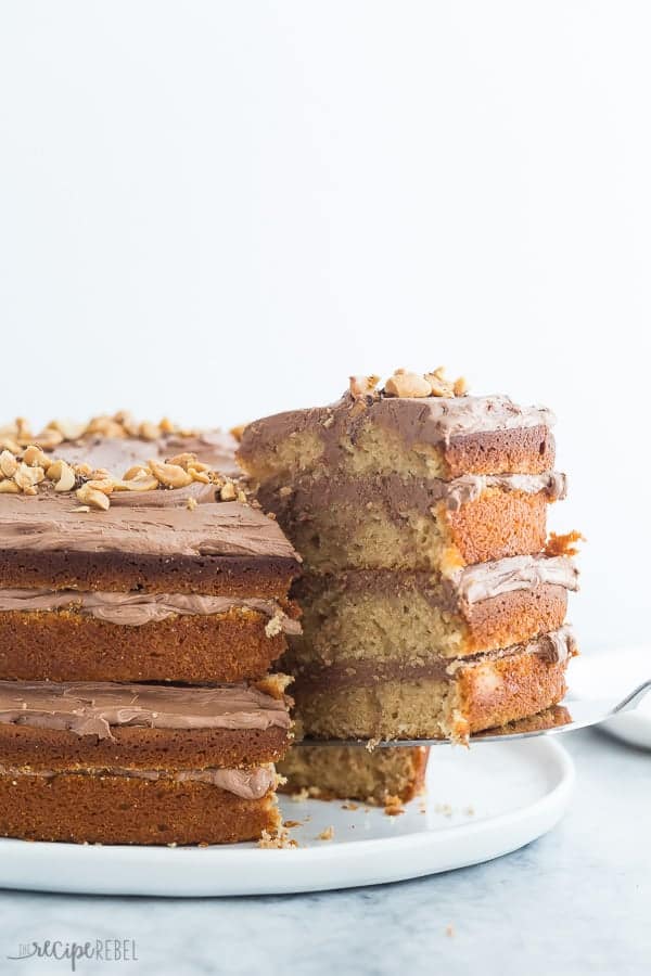
{"type": "Polygon", "coordinates": [[[3,495],[0,549],[2,589],[269,599],[286,594],[299,567],[278,525],[239,502],[85,512],[69,496],[3,495]]]}

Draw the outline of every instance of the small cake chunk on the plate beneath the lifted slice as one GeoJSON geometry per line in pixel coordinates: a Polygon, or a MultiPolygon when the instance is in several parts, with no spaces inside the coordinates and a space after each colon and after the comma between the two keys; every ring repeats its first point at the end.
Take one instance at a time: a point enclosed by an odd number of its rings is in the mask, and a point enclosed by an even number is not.
{"type": "Polygon", "coordinates": [[[291,748],[278,766],[286,778],[282,793],[307,789],[319,799],[357,799],[383,804],[387,797],[408,802],[424,791],[429,749],[367,749],[346,746],[291,748]]]}

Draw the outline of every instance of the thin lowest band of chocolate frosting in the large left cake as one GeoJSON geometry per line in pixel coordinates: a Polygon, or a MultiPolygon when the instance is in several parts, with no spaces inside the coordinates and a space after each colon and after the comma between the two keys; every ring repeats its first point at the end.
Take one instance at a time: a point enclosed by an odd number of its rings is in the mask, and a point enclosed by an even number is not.
{"type": "Polygon", "coordinates": [[[276,772],[272,766],[256,766],[251,769],[181,769],[162,771],[158,769],[65,769],[33,770],[11,769],[0,766],[3,776],[42,776],[54,780],[56,776],[125,776],[135,780],[171,780],[174,783],[208,783],[218,786],[243,799],[261,799],[269,789],[276,786],[276,772]]]}

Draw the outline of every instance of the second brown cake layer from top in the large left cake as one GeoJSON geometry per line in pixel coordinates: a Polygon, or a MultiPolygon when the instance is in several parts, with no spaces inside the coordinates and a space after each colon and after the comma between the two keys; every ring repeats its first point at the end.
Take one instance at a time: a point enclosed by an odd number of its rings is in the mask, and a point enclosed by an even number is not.
{"type": "MultiPolygon", "coordinates": [[[[284,609],[291,607],[282,602],[284,609]]],[[[293,613],[293,611],[291,611],[293,613]]],[[[0,679],[235,682],[261,678],[285,647],[252,609],[129,627],[69,611],[0,613],[0,679]]]]}

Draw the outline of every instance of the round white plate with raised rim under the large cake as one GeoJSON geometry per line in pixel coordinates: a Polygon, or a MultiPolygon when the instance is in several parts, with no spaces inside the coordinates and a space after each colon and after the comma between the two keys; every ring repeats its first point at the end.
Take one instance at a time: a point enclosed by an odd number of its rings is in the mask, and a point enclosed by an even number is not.
{"type": "Polygon", "coordinates": [[[0,887],[94,895],[276,895],[420,877],[509,853],[551,830],[574,770],[556,742],[432,749],[427,799],[405,813],[281,799],[299,847],[77,846],[0,840],[0,887]],[[318,839],[334,827],[331,840],[318,839]]]}

